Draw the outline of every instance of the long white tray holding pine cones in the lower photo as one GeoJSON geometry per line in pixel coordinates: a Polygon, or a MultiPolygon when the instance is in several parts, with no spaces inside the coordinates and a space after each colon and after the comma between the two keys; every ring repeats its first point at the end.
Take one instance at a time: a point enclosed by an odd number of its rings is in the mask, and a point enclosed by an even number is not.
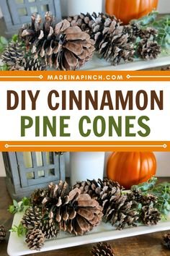
{"type": "MultiPolygon", "coordinates": [[[[22,213],[17,213],[14,216],[12,226],[19,225],[22,218],[22,213]]],[[[101,241],[108,241],[112,239],[120,239],[128,236],[138,236],[140,234],[149,234],[158,231],[166,231],[170,229],[170,215],[166,221],[161,221],[156,226],[138,226],[136,228],[127,228],[122,231],[118,231],[115,227],[109,223],[101,223],[94,228],[88,234],[84,236],[73,236],[66,234],[63,231],[58,236],[58,239],[48,240],[45,242],[45,246],[41,249],[41,252],[50,251],[53,249],[61,249],[66,247],[74,247],[81,244],[90,244],[101,241]]],[[[37,251],[31,251],[27,248],[27,244],[24,242],[24,237],[18,237],[16,233],[11,233],[8,244],[8,254],[10,256],[29,255],[36,253],[37,251]]]]}

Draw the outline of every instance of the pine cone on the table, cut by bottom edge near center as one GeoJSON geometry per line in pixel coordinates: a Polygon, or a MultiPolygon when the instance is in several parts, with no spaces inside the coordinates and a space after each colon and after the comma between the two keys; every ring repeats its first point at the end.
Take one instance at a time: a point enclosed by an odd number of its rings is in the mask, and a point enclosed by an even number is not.
{"type": "Polygon", "coordinates": [[[108,244],[107,242],[97,243],[97,246],[93,247],[91,250],[91,254],[93,256],[114,256],[115,252],[112,249],[111,244],[108,244]]]}

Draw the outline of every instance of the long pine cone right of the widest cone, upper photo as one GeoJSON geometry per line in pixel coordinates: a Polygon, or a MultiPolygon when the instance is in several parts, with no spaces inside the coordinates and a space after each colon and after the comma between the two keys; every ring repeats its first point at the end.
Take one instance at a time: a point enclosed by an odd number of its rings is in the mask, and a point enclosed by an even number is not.
{"type": "Polygon", "coordinates": [[[71,17],[68,20],[71,25],[79,25],[88,31],[91,38],[96,42],[96,51],[104,59],[113,65],[120,64],[122,59],[125,62],[133,60],[135,51],[132,40],[130,40],[131,34],[128,33],[128,30],[125,31],[124,26],[120,26],[120,20],[102,13],[99,13],[98,16],[95,13],[92,15],[83,14],[83,18],[81,16],[78,17],[76,23],[76,20],[71,20],[71,17]],[[82,22],[79,21],[80,19],[82,22]]]}

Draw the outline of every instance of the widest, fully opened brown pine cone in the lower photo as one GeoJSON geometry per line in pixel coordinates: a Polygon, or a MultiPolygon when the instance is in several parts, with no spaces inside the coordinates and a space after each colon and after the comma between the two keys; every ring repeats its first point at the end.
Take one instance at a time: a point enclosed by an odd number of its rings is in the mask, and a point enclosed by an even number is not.
{"type": "Polygon", "coordinates": [[[76,235],[83,235],[102,220],[102,207],[78,188],[69,192],[68,184],[50,184],[50,195],[42,201],[43,213],[58,222],[59,228],[76,235]]]}

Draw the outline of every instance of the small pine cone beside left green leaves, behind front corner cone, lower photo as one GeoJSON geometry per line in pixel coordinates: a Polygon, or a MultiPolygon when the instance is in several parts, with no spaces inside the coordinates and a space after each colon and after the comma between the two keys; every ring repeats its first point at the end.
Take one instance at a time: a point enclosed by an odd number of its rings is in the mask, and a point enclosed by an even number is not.
{"type": "Polygon", "coordinates": [[[37,206],[30,207],[22,217],[22,226],[26,229],[35,229],[40,225],[42,218],[41,210],[37,206]]]}

